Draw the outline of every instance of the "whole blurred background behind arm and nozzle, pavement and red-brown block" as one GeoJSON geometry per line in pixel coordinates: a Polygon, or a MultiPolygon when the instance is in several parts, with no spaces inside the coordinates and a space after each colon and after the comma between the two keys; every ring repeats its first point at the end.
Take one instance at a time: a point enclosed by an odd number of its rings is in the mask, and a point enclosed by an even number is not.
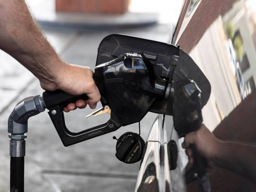
{"type": "MultiPolygon", "coordinates": [[[[68,63],[94,70],[100,41],[113,33],[170,42],[183,6],[168,0],[27,0],[31,13],[58,54],[68,63]]],[[[9,191],[7,119],[18,101],[42,94],[39,81],[0,50],[0,191],[9,191]]],[[[98,103],[97,108],[101,104],[98,103]]],[[[71,131],[104,123],[108,114],[85,119],[93,110],[65,114],[71,131]]],[[[156,114],[141,122],[147,138],[156,114]]],[[[25,191],[133,191],[139,163],[127,165],[115,157],[115,140],[138,125],[64,147],[47,113],[30,119],[25,156],[25,191]]]]}

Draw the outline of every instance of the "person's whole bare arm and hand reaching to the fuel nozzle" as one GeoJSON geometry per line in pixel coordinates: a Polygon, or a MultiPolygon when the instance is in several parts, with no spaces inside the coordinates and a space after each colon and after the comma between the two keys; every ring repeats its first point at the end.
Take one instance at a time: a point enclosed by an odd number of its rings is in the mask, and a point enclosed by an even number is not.
{"type": "Polygon", "coordinates": [[[24,0],[0,0],[0,49],[29,69],[43,89],[87,94],[86,101],[70,103],[64,111],[84,108],[87,104],[95,108],[100,101],[92,70],[62,61],[37,27],[24,0]]]}

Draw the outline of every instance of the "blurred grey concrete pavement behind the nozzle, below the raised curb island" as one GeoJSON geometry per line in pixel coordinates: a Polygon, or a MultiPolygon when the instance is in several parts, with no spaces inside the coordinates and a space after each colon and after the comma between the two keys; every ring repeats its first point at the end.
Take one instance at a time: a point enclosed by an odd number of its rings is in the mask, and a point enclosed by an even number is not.
{"type": "MultiPolygon", "coordinates": [[[[60,56],[69,63],[95,66],[100,41],[112,33],[169,42],[173,28],[154,25],[140,29],[94,32],[46,30],[45,35],[60,56]]],[[[7,119],[17,102],[42,94],[39,81],[11,56],[0,51],[0,189],[9,191],[9,138],[7,119]]],[[[101,105],[98,104],[97,108],[101,105]]],[[[81,131],[104,123],[107,114],[85,116],[92,110],[77,109],[65,114],[67,127],[81,131]]],[[[156,117],[148,113],[141,121],[141,136],[147,134],[156,117]]],[[[25,191],[133,191],[139,163],[124,164],[115,157],[115,140],[127,131],[138,132],[138,125],[121,127],[113,133],[64,147],[46,112],[29,119],[25,156],[25,191]]]]}

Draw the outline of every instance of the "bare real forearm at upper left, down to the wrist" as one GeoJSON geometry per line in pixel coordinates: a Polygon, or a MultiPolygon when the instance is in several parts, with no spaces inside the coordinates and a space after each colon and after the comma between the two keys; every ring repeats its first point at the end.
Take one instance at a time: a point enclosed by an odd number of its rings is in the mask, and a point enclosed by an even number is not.
{"type": "Polygon", "coordinates": [[[37,27],[24,0],[0,0],[0,49],[38,79],[52,80],[66,65],[37,27]]]}

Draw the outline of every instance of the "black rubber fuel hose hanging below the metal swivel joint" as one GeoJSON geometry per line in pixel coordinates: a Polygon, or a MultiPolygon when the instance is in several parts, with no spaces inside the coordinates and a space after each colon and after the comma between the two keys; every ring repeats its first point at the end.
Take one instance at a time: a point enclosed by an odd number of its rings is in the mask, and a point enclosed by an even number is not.
{"type": "Polygon", "coordinates": [[[10,192],[24,192],[24,157],[11,157],[10,192]]]}

